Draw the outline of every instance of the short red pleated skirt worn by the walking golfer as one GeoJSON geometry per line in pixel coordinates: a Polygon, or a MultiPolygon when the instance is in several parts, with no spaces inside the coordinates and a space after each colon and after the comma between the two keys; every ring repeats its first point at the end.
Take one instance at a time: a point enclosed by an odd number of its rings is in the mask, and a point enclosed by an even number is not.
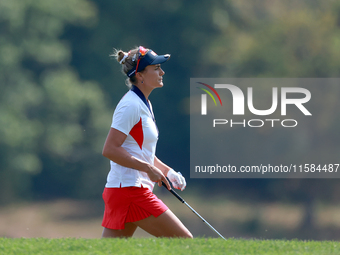
{"type": "Polygon", "coordinates": [[[158,217],[168,207],[148,188],[105,188],[102,226],[124,229],[125,223],[143,220],[151,215],[158,217]]]}

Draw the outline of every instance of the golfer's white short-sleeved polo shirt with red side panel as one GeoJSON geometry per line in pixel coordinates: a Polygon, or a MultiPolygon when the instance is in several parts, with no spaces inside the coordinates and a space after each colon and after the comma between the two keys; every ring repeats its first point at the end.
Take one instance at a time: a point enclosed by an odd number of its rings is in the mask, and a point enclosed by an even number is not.
{"type": "MultiPolygon", "coordinates": [[[[138,90],[138,88],[137,88],[138,90]]],[[[140,90],[137,93],[141,93],[140,90]]],[[[122,147],[132,156],[154,164],[158,129],[154,122],[152,106],[150,110],[143,102],[144,95],[138,96],[134,91],[128,91],[118,103],[112,119],[112,128],[127,135],[122,147]]],[[[107,188],[143,187],[151,191],[154,182],[144,172],[121,166],[110,161],[111,169],[107,176],[107,188]]]]}

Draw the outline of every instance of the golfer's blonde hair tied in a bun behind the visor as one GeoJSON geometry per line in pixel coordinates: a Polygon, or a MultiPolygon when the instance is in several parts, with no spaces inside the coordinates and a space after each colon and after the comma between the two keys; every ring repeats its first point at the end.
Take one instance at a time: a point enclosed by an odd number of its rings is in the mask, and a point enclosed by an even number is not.
{"type": "MultiPolygon", "coordinates": [[[[113,54],[110,55],[110,57],[114,57],[121,65],[122,65],[122,73],[127,75],[127,73],[133,69],[136,68],[137,64],[137,53],[138,53],[138,47],[130,50],[129,52],[124,52],[122,50],[113,49],[113,54]],[[126,57],[125,57],[126,56],[126,57]]],[[[136,84],[137,79],[136,76],[132,76],[130,78],[127,78],[125,81],[125,84],[131,88],[132,84],[136,84]]]]}

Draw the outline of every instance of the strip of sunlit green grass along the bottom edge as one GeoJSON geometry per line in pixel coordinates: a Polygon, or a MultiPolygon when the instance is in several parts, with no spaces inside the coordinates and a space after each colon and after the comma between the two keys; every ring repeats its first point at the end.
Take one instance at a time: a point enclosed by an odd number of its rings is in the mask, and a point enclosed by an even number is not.
{"type": "Polygon", "coordinates": [[[340,254],[335,241],[0,238],[0,254],[340,254]]]}

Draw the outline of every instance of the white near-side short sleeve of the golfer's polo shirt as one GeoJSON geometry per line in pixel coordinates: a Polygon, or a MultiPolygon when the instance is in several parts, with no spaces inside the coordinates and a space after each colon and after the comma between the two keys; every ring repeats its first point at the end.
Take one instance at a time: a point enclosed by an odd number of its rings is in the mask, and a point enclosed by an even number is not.
{"type": "Polygon", "coordinates": [[[140,106],[133,101],[121,101],[113,113],[111,127],[128,135],[140,121],[140,111],[140,106]]]}

